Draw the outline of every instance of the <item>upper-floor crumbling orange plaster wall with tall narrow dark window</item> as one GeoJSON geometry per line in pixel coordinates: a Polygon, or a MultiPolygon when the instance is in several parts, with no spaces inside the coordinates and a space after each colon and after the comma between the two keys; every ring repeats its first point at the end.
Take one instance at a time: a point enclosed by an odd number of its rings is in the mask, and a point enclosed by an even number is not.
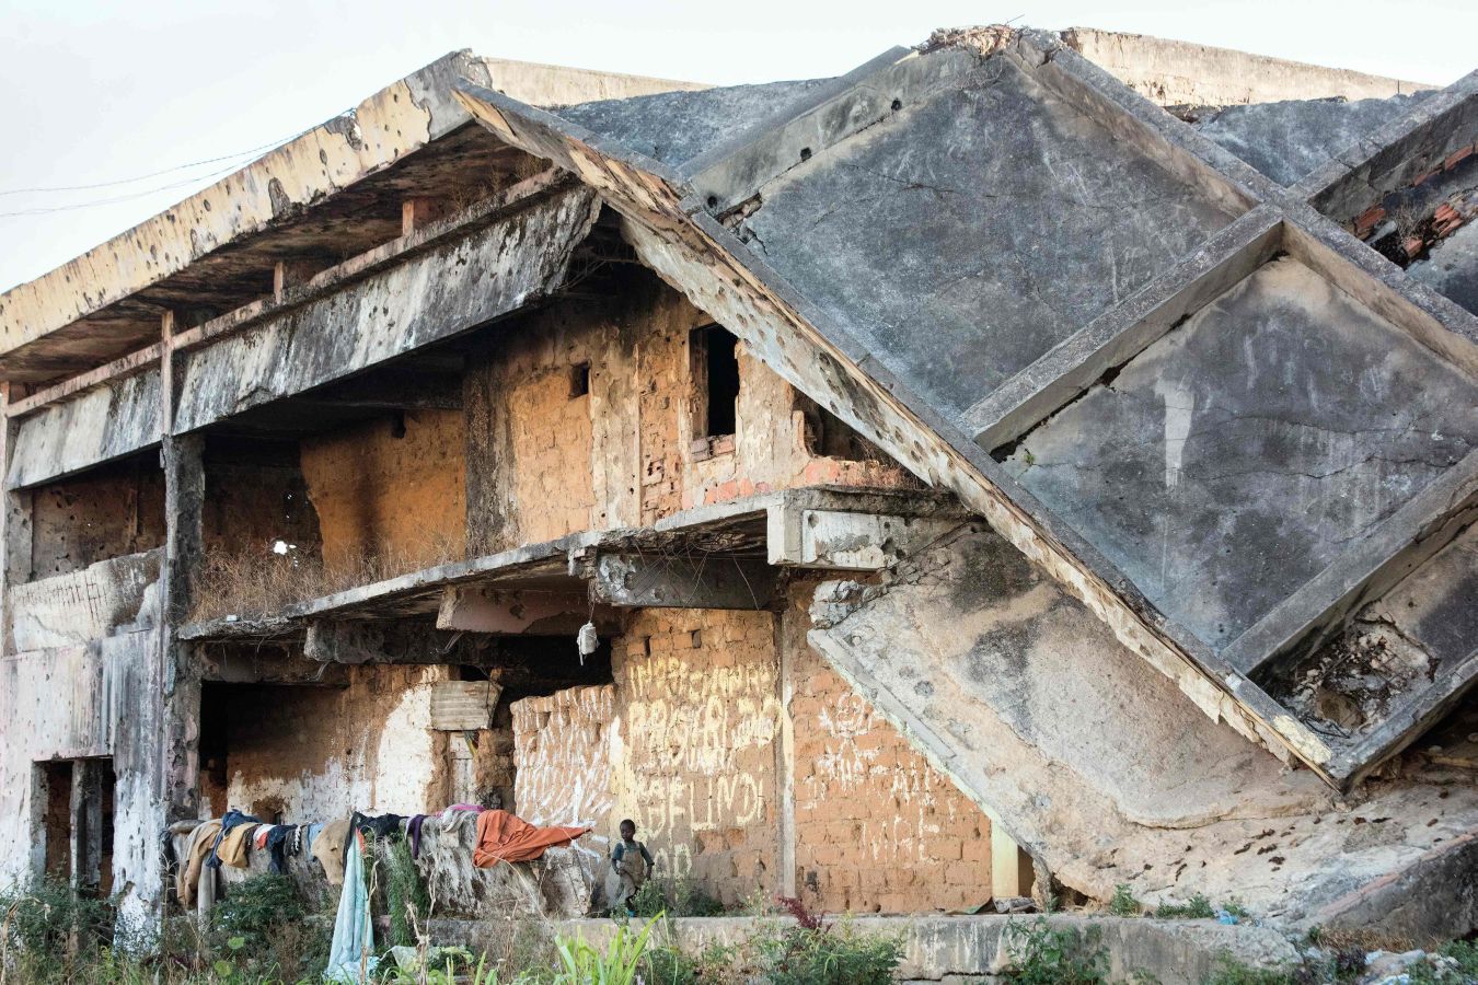
{"type": "Polygon", "coordinates": [[[643,276],[613,306],[563,301],[486,340],[464,387],[469,548],[650,524],[770,489],[912,481],[881,453],[816,453],[804,399],[742,344],[735,440],[695,450],[689,335],[709,323],[643,276]]]}

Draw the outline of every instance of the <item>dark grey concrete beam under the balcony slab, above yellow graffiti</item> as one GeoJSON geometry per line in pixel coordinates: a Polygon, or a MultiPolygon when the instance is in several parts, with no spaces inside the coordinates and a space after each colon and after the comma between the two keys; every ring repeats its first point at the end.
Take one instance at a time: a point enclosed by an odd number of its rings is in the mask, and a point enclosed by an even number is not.
{"type": "Polygon", "coordinates": [[[766,608],[776,572],[763,558],[599,552],[590,597],[622,608],[766,608]]]}

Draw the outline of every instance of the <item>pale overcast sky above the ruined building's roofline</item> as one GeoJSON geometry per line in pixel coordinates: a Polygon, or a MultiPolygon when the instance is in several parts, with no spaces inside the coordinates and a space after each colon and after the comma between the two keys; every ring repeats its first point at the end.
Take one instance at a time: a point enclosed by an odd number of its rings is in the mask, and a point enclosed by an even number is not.
{"type": "Polygon", "coordinates": [[[1005,21],[1440,84],[1478,62],[1475,0],[0,0],[0,289],[454,49],[733,84],[835,75],[936,27],[1005,21]],[[102,188],[25,191],[87,185],[102,188]]]}

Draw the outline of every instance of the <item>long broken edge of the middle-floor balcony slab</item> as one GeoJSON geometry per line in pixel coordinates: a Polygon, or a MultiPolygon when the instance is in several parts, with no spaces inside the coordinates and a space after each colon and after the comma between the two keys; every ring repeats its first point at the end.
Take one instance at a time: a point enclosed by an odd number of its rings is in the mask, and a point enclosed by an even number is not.
{"type": "MultiPolygon", "coordinates": [[[[333,592],[319,598],[287,605],[276,613],[262,616],[222,616],[180,626],[177,636],[189,641],[242,639],[257,636],[291,635],[302,629],[302,622],[310,617],[331,616],[356,607],[392,601],[411,592],[463,585],[488,576],[514,576],[520,570],[538,567],[551,560],[575,566],[579,558],[602,548],[621,551],[644,530],[656,533],[681,533],[698,530],[714,523],[743,518],[767,520],[769,517],[794,515],[804,509],[894,512],[909,517],[953,517],[959,508],[940,493],[900,492],[893,489],[859,489],[850,486],[804,486],[783,489],[754,496],[743,496],[720,504],[693,507],[664,517],[650,527],[610,527],[585,530],[554,540],[528,543],[508,551],[488,554],[466,561],[452,561],[409,572],[396,577],[371,582],[358,588],[333,592]]],[[[510,585],[507,588],[516,588],[510,585]]]]}

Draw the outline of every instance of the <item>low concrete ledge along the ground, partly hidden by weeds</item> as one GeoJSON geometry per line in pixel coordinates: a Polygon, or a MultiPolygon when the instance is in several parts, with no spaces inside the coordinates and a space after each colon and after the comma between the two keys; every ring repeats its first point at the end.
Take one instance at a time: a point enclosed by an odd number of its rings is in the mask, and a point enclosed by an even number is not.
{"type": "MultiPolygon", "coordinates": [[[[902,961],[902,981],[939,981],[946,976],[993,975],[1009,966],[1015,935],[1038,926],[1073,932],[1088,947],[1103,948],[1108,957],[1110,981],[1129,981],[1150,972],[1166,985],[1202,982],[1231,958],[1252,967],[1278,967],[1298,960],[1298,950],[1273,927],[1255,924],[1227,926],[1212,920],[1156,920],[1153,917],[1111,917],[1100,914],[1045,916],[844,916],[841,932],[896,938],[902,961]]],[[[609,944],[622,924],[615,920],[565,920],[556,924],[562,935],[582,939],[597,948],[609,944]]],[[[637,924],[634,924],[637,926],[637,924]]],[[[712,945],[736,945],[748,938],[794,926],[788,917],[675,917],[653,926],[658,945],[699,954],[712,945]]],[[[835,933],[837,930],[834,930],[835,933]]]]}

